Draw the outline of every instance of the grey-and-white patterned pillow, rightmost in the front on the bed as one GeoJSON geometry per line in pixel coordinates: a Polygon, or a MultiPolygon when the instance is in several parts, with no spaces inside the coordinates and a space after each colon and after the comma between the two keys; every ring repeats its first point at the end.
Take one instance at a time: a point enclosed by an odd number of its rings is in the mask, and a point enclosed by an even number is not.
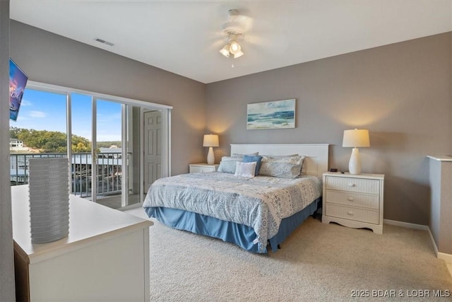
{"type": "Polygon", "coordinates": [[[302,174],[304,156],[270,158],[264,156],[259,175],[276,178],[297,178],[302,174]]]}

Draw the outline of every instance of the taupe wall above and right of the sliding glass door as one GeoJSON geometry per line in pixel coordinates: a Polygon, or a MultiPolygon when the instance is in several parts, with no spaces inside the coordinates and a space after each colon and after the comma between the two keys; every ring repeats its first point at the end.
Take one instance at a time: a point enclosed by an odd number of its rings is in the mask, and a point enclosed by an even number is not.
{"type": "Polygon", "coordinates": [[[172,174],[203,161],[203,83],[17,21],[11,58],[32,81],[173,106],[172,174]]]}

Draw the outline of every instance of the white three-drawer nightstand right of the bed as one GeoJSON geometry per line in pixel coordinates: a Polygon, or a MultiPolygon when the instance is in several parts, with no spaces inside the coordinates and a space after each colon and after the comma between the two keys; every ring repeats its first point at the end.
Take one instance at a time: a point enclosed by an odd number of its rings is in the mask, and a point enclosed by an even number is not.
{"type": "Polygon", "coordinates": [[[323,173],[322,222],[383,233],[383,174],[323,173]]]}

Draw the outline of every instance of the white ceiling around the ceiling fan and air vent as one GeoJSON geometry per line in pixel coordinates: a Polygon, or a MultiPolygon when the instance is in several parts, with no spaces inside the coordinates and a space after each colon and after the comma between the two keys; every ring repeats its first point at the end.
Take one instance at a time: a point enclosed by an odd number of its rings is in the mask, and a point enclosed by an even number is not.
{"type": "Polygon", "coordinates": [[[11,0],[10,8],[13,20],[202,83],[452,30],[451,1],[11,0]],[[249,28],[238,59],[219,52],[232,8],[249,28]]]}

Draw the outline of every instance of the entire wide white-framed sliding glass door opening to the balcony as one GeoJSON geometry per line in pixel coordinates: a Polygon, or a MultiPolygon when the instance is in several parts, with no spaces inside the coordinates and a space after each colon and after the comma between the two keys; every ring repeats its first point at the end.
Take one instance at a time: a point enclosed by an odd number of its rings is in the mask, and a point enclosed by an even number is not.
{"type": "Polygon", "coordinates": [[[11,123],[11,185],[28,158],[68,157],[71,194],[107,207],[143,202],[169,176],[171,107],[29,81],[11,123]]]}

